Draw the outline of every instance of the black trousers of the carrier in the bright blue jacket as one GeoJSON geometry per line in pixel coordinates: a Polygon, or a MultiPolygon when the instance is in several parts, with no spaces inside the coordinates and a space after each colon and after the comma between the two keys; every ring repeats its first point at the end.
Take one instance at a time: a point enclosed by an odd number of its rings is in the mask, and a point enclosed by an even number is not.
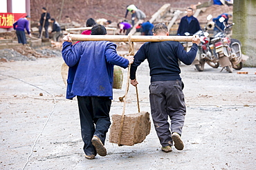
{"type": "Polygon", "coordinates": [[[107,131],[111,125],[109,118],[111,99],[98,96],[77,96],[77,100],[84,153],[87,156],[96,155],[91,139],[94,135],[98,136],[104,145],[107,131]]]}

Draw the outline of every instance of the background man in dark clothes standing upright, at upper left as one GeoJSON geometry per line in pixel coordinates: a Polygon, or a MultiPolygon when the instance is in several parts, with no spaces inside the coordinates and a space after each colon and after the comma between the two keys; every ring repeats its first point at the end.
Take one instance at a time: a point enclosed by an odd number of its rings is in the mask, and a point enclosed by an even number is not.
{"type": "Polygon", "coordinates": [[[49,33],[48,33],[49,21],[48,21],[48,19],[51,19],[51,16],[47,12],[45,7],[42,8],[42,12],[43,13],[41,14],[41,18],[40,18],[40,21],[38,23],[38,25],[39,25],[39,38],[42,38],[41,32],[42,32],[42,29],[44,27],[44,30],[46,32],[45,37],[47,39],[47,38],[49,38],[49,33]]]}

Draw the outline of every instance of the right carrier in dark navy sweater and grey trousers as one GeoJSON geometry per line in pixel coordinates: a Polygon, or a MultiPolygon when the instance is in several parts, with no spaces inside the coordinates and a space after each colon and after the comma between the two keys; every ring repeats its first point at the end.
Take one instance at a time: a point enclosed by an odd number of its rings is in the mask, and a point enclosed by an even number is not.
{"type": "MultiPolygon", "coordinates": [[[[168,28],[164,23],[154,26],[154,36],[168,36],[168,28]]],[[[181,140],[184,125],[186,107],[181,81],[181,69],[179,60],[190,65],[194,61],[197,45],[200,43],[198,36],[192,39],[192,47],[189,52],[179,42],[163,41],[148,42],[143,44],[131,65],[131,85],[136,86],[136,70],[138,65],[147,59],[149,63],[151,84],[149,86],[149,101],[152,119],[156,134],[162,145],[162,151],[172,151],[172,145],[178,150],[183,150],[181,140]],[[171,119],[171,126],[168,123],[171,119]],[[170,131],[171,127],[171,131],[170,131]]]]}

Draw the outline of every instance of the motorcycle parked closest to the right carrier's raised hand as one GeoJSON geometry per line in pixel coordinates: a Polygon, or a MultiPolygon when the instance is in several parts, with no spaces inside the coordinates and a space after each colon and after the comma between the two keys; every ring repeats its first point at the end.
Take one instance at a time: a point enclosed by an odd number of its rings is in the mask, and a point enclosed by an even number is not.
{"type": "Polygon", "coordinates": [[[208,15],[207,22],[205,24],[204,30],[199,30],[196,35],[199,35],[201,43],[198,45],[198,50],[196,53],[196,58],[193,61],[196,70],[203,72],[205,63],[208,63],[213,68],[219,67],[219,59],[217,55],[214,55],[214,45],[210,43],[209,33],[207,32],[208,21],[212,19],[212,15],[208,15]]]}

